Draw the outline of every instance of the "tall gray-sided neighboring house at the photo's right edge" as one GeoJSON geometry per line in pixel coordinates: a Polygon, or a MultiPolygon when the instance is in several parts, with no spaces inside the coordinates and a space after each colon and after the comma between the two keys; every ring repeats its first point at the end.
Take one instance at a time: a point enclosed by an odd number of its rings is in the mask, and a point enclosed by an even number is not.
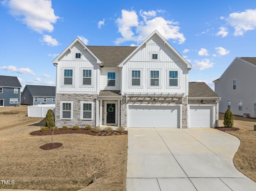
{"type": "Polygon", "coordinates": [[[215,92],[221,96],[221,113],[229,108],[234,115],[249,114],[255,118],[256,57],[236,57],[215,83],[215,92]]]}

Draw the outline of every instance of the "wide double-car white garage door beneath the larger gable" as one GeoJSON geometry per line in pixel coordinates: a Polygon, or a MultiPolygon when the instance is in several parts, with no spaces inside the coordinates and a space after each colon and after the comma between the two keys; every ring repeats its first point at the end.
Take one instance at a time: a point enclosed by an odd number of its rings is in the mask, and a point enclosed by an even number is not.
{"type": "Polygon", "coordinates": [[[130,105],[129,127],[180,127],[180,106],[130,105]]]}

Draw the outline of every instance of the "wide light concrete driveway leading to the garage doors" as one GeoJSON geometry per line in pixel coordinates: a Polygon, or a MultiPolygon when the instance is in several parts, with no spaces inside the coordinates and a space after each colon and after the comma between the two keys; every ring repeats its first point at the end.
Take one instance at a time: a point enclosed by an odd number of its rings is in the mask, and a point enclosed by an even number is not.
{"type": "Polygon", "coordinates": [[[129,128],[127,191],[255,191],[234,167],[239,145],[212,128],[129,128]]]}

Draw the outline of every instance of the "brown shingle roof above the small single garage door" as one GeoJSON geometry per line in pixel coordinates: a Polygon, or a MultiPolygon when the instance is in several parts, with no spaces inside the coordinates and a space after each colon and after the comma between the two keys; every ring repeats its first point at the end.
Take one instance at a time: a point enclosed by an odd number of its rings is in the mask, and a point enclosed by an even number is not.
{"type": "Polygon", "coordinates": [[[219,96],[204,82],[189,82],[188,97],[219,97],[219,96]]]}

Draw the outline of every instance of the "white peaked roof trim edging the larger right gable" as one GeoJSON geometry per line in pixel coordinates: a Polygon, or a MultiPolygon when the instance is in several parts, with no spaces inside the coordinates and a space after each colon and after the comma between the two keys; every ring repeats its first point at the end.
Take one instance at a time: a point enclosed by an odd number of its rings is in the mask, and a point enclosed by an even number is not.
{"type": "Polygon", "coordinates": [[[188,69],[192,68],[192,65],[190,65],[190,63],[188,63],[188,61],[186,59],[184,59],[184,57],[182,57],[182,55],[180,55],[180,53],[178,53],[178,51],[176,51],[176,49],[174,49],[174,47],[172,47],[172,45],[170,45],[170,43],[168,43],[168,41],[157,31],[155,30],[153,33],[151,33],[128,57],[126,57],[126,59],[124,61],[122,61],[122,63],[120,63],[119,67],[123,67],[123,65],[138,51],[140,50],[140,48],[149,41],[149,39],[152,38],[153,35],[157,35],[166,46],[168,46],[173,52],[174,54],[176,54],[176,56],[178,58],[180,58],[186,65],[188,69]]]}

